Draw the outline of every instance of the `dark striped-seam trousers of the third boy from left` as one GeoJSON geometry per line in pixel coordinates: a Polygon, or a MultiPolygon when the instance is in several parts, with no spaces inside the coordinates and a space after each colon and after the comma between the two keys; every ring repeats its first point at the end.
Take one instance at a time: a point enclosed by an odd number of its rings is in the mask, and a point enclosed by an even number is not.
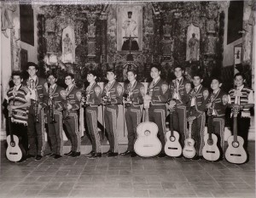
{"type": "Polygon", "coordinates": [[[54,114],[55,123],[52,122],[52,118],[49,113],[47,114],[47,122],[49,129],[49,141],[51,145],[51,151],[54,154],[62,156],[63,150],[63,134],[62,134],[62,113],[61,111],[55,111],[54,114]]]}

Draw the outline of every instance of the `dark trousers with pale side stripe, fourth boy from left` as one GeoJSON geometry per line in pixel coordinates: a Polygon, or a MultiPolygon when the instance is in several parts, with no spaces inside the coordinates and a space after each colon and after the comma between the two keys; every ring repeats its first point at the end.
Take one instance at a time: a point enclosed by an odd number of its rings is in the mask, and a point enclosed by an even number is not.
{"type": "Polygon", "coordinates": [[[68,117],[69,119],[64,119],[64,124],[71,140],[71,150],[80,152],[79,116],[76,112],[70,112],[68,117]]]}

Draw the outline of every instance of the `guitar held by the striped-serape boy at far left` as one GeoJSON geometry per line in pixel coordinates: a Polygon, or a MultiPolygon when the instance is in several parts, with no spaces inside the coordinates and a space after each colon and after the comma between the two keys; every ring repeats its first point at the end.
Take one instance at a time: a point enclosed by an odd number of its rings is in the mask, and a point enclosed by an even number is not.
{"type": "Polygon", "coordinates": [[[9,110],[9,136],[7,136],[7,150],[6,150],[6,157],[9,161],[20,161],[24,156],[24,152],[22,151],[22,147],[19,144],[19,138],[13,134],[11,128],[11,117],[12,117],[12,110],[9,110]]]}

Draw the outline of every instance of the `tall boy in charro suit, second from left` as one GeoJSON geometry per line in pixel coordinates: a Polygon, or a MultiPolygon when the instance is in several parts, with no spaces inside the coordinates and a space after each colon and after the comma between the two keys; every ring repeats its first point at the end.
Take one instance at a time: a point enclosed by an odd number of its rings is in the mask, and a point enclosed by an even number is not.
{"type": "Polygon", "coordinates": [[[28,62],[26,66],[29,78],[24,81],[24,85],[31,92],[31,106],[27,120],[29,143],[29,154],[27,158],[36,157],[36,161],[38,161],[42,159],[44,154],[44,109],[42,103],[48,85],[44,78],[37,76],[38,65],[28,62]],[[35,105],[38,105],[38,112],[35,110],[35,105]],[[38,116],[38,123],[35,122],[36,116],[38,116]]]}

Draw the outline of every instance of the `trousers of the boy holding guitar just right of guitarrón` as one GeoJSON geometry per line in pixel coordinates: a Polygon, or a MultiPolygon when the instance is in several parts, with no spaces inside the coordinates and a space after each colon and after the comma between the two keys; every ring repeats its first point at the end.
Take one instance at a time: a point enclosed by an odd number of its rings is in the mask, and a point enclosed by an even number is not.
{"type": "Polygon", "coordinates": [[[178,105],[173,112],[173,129],[180,134],[179,142],[184,145],[184,140],[187,138],[187,119],[186,106],[178,105]]]}

